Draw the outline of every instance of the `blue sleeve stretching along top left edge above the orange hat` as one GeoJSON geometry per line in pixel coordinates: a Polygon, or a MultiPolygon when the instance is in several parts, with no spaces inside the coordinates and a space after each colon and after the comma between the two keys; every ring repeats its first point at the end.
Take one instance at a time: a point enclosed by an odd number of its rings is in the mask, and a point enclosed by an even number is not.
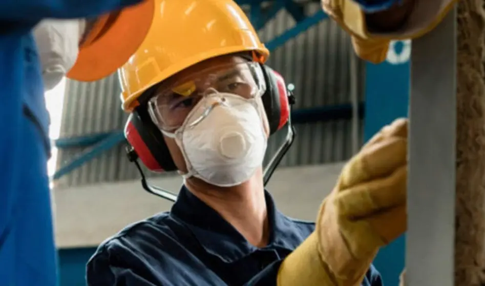
{"type": "Polygon", "coordinates": [[[142,0],[1,0],[0,21],[36,23],[43,18],[83,18],[119,10],[142,0]]]}

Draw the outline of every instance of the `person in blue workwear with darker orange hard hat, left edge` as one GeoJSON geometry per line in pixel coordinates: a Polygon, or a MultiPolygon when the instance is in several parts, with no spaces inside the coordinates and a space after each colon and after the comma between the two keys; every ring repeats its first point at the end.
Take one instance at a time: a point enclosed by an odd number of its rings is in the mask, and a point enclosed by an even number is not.
{"type": "Polygon", "coordinates": [[[130,6],[139,2],[0,1],[2,285],[57,284],[47,175],[49,115],[43,77],[49,79],[47,87],[51,88],[66,72],[78,80],[95,80],[114,72],[138,48],[149,27],[143,19],[153,14],[153,3],[130,6]],[[120,11],[123,7],[129,8],[120,11]],[[102,15],[112,10],[117,12],[102,15]],[[33,29],[44,18],[78,19],[64,28],[52,22],[41,24],[43,27],[36,31],[43,34],[37,37],[43,42],[37,45],[33,29]],[[121,39],[126,43],[119,45],[121,39]],[[36,46],[51,50],[37,50],[36,46]],[[44,67],[39,55],[47,56],[42,60],[44,67]]]}

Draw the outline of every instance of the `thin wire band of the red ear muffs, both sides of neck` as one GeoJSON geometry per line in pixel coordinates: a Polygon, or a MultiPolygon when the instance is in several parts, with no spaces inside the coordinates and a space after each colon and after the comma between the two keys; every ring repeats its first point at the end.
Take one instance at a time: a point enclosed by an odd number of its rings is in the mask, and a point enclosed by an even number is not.
{"type": "MultiPolygon", "coordinates": [[[[288,115],[288,122],[286,124],[288,131],[286,133],[285,142],[280,146],[280,148],[276,152],[275,156],[273,156],[271,158],[268,165],[264,168],[264,173],[263,173],[264,186],[266,186],[266,184],[269,182],[269,179],[271,178],[273,173],[275,173],[276,168],[278,167],[278,165],[280,165],[281,160],[285,156],[286,152],[288,152],[288,150],[290,149],[290,147],[291,147],[291,145],[293,144],[293,141],[294,141],[295,130],[294,130],[294,126],[291,122],[291,111],[292,111],[292,107],[295,103],[295,98],[294,98],[294,95],[293,95],[293,90],[294,90],[293,85],[288,85],[287,90],[288,90],[288,94],[287,94],[288,103],[289,103],[289,108],[290,108],[290,112],[289,112],[289,115],[288,115]]],[[[170,191],[164,190],[162,188],[152,186],[148,183],[148,181],[146,180],[146,176],[145,176],[143,170],[141,169],[140,163],[138,161],[138,154],[136,154],[135,149],[132,146],[126,147],[126,155],[128,156],[128,159],[131,162],[135,163],[136,168],[138,169],[138,172],[141,175],[141,186],[143,187],[143,189],[145,191],[147,191],[147,192],[149,192],[153,195],[162,197],[164,199],[170,200],[170,201],[176,201],[177,200],[176,194],[174,194],[170,191]]]]}

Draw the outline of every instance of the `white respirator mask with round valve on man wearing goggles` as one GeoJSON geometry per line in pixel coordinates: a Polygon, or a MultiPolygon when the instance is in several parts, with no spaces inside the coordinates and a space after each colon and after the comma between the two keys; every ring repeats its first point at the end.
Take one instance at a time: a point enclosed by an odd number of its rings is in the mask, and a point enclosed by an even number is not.
{"type": "Polygon", "coordinates": [[[231,93],[205,95],[174,133],[188,172],[211,185],[232,187],[247,181],[263,164],[267,138],[264,111],[256,98],[231,93]]]}

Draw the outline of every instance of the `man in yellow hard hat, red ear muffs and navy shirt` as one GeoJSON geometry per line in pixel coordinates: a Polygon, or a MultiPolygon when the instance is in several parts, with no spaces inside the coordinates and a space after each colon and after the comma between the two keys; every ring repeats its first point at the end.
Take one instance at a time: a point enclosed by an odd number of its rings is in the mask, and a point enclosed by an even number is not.
{"type": "Polygon", "coordinates": [[[119,70],[125,135],[147,168],[184,183],[170,212],[100,244],[88,285],[381,286],[371,261],[406,228],[407,121],[348,162],[315,231],[264,189],[267,139],[288,102],[243,11],[231,0],[158,0],[156,10],[119,70]]]}

